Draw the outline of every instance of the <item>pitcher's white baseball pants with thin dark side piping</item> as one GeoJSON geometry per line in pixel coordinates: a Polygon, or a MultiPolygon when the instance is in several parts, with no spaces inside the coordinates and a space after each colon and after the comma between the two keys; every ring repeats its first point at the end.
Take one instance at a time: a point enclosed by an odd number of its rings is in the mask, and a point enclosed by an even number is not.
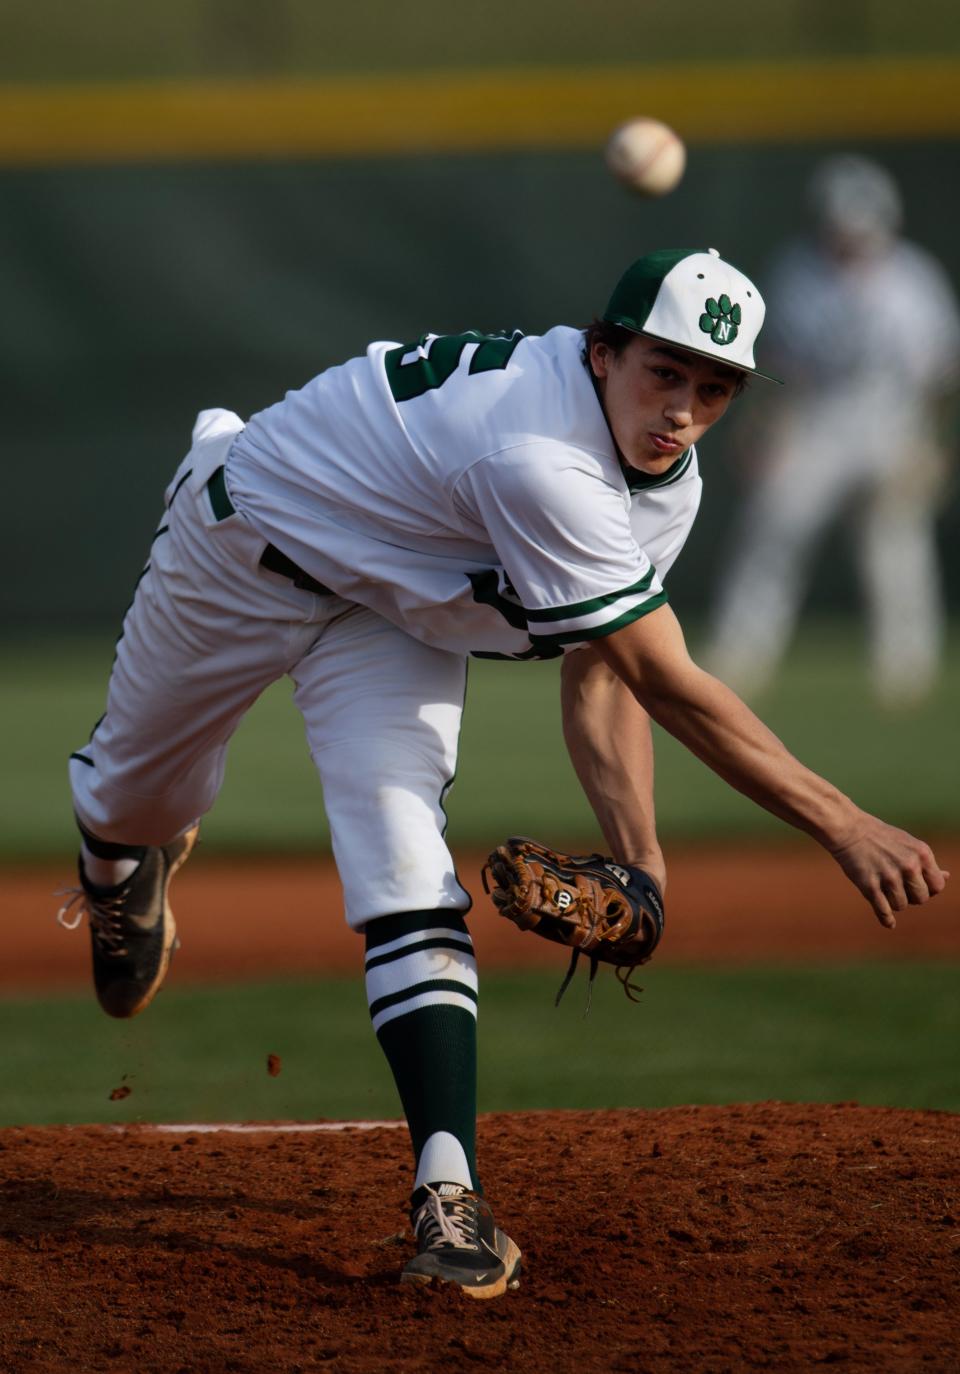
{"type": "Polygon", "coordinates": [[[239,427],[229,412],[202,412],[168,488],[106,714],[70,760],[77,816],[102,840],[168,844],[210,809],[231,735],[264,688],[288,675],[349,925],[467,910],[442,809],[466,660],[260,565],[266,541],[239,513],[218,519],[207,486],[239,427]]]}

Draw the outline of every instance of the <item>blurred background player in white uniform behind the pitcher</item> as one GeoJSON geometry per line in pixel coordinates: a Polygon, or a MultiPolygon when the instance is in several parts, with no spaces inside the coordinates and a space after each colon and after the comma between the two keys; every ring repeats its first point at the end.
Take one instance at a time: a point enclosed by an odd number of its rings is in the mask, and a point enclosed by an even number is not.
{"type": "Polygon", "coordinates": [[[755,462],[750,455],[746,511],[705,661],[740,691],[769,682],[817,539],[845,513],[869,610],[873,686],[902,705],[931,687],[942,643],[938,419],[960,375],[960,322],[939,264],[897,238],[900,196],[882,168],[832,158],[809,196],[814,234],[790,245],[770,273],[766,348],[787,386],[755,462]]]}

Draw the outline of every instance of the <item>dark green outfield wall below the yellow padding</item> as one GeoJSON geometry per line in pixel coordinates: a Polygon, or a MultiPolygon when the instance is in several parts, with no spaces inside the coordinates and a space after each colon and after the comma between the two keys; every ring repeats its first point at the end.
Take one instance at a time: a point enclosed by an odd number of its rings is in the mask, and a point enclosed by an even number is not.
{"type": "MultiPolygon", "coordinates": [[[[196,409],[246,415],[371,338],[585,323],[662,245],[716,245],[762,282],[817,157],[846,146],[694,143],[663,201],[621,190],[596,147],[0,166],[0,625],[117,620],[196,409]]],[[[960,139],[856,147],[895,173],[908,232],[960,280],[960,139]]],[[[717,577],[738,430],[703,448],[681,607],[702,610],[717,577]]],[[[942,543],[960,605],[956,499],[942,543]]],[[[852,596],[843,561],[821,572],[814,602],[852,596]]]]}

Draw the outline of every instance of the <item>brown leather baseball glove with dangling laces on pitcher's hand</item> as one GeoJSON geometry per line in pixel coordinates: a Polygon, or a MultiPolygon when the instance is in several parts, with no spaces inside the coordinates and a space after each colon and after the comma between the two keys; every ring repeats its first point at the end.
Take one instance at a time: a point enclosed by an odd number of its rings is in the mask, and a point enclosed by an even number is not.
{"type": "Polygon", "coordinates": [[[511,835],[488,857],[481,877],[500,915],[573,949],[558,1003],[581,954],[591,960],[591,988],[597,965],[611,963],[630,1002],[637,1000],[640,989],[630,974],[647,963],[663,934],[663,900],[648,872],[603,855],[556,853],[511,835]]]}

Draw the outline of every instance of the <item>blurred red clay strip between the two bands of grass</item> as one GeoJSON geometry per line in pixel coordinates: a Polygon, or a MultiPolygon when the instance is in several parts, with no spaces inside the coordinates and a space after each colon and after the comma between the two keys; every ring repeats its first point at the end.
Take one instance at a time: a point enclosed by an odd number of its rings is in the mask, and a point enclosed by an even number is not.
{"type": "MultiPolygon", "coordinates": [[[[814,844],[677,849],[658,962],[750,963],[960,956],[960,837],[938,840],[955,872],[935,901],[884,930],[832,859],[814,844]]],[[[474,896],[470,927],[481,969],[559,966],[558,949],[496,915],[479,882],[482,855],[459,853],[474,896]]],[[[4,871],[0,987],[88,985],[87,936],[52,919],[60,870],[4,871]]],[[[173,888],[183,948],[177,982],[357,973],[363,941],[346,929],[336,872],[324,859],[217,860],[202,846],[173,888]],[[229,932],[229,938],[224,938],[229,932]]],[[[562,960],[559,960],[562,963],[562,960]]]]}

